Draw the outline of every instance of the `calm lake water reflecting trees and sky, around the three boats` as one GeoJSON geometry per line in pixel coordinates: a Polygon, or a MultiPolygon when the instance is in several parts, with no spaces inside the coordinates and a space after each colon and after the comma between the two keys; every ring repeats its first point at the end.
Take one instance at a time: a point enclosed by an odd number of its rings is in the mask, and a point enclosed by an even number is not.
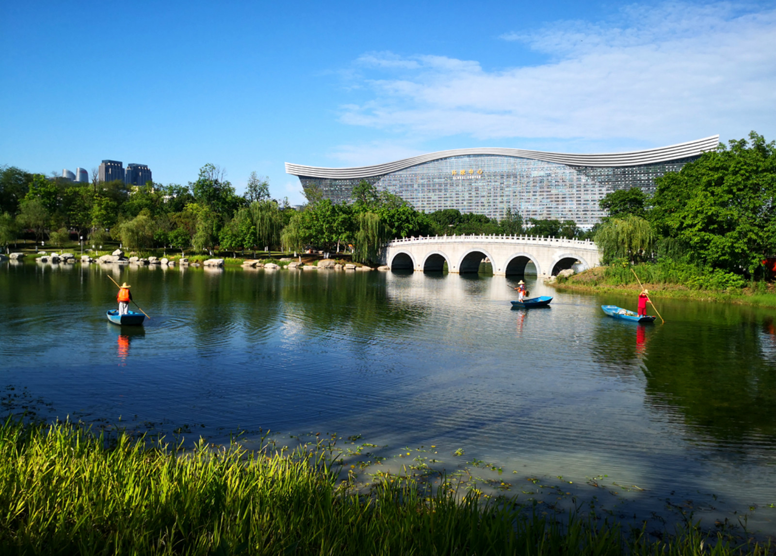
{"type": "Polygon", "coordinates": [[[658,301],[666,324],[634,325],[600,306],[635,295],[532,276],[553,303],[512,310],[518,278],[3,262],[3,409],[214,442],[361,435],[387,468],[433,457],[522,500],[776,534],[774,311],[658,301]],[[106,321],[106,275],[142,328],[106,321]]]}

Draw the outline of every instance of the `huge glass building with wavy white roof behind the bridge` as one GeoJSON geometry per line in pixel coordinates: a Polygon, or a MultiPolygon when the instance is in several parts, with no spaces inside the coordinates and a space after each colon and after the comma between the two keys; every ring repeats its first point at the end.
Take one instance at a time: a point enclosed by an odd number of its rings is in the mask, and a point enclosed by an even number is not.
{"type": "Polygon", "coordinates": [[[606,216],[598,203],[617,189],[638,187],[651,195],[655,180],[678,172],[719,144],[719,135],[667,147],[575,155],[514,148],[439,151],[386,164],[320,168],[286,162],[303,189],[325,199],[350,202],[366,181],[394,193],[425,213],[458,209],[501,220],[507,210],[524,220],[573,220],[588,229],[606,216]]]}

